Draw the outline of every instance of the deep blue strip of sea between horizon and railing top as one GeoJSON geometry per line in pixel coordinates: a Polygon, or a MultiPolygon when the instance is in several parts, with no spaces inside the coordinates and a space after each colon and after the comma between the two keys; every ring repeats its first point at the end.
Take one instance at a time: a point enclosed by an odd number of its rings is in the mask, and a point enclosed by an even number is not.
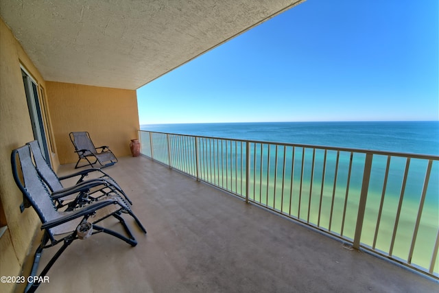
{"type": "Polygon", "coordinates": [[[152,124],[141,130],[439,155],[439,121],[152,124]]]}

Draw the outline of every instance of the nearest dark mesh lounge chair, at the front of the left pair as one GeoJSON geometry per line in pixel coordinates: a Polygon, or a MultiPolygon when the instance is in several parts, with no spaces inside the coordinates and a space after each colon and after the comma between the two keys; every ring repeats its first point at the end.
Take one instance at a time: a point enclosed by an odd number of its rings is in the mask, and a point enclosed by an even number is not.
{"type": "MultiPolygon", "coordinates": [[[[132,213],[128,204],[116,193],[114,196],[107,196],[102,200],[92,202],[75,211],[58,211],[54,206],[54,202],[51,200],[50,193],[43,183],[43,180],[41,180],[36,172],[29,145],[24,145],[12,151],[11,165],[16,185],[38,214],[42,222],[41,229],[44,230],[43,239],[41,240],[40,246],[36,249],[34,256],[31,276],[36,276],[38,262],[41,253],[43,253],[43,249],[56,246],[60,243],[62,243],[62,246],[50,259],[37,279],[43,279],[42,277],[47,274],[51,266],[53,266],[67,246],[76,239],[85,239],[96,233],[103,232],[122,239],[131,246],[136,246],[137,241],[123,220],[121,213],[130,214],[141,230],[146,233],[145,228],[134,213],[132,213]],[[21,180],[20,171],[23,180],[21,180]],[[110,217],[119,220],[128,237],[97,225],[102,220],[110,217]]],[[[38,285],[38,282],[28,283],[25,292],[34,292],[38,288],[38,285]]]]}

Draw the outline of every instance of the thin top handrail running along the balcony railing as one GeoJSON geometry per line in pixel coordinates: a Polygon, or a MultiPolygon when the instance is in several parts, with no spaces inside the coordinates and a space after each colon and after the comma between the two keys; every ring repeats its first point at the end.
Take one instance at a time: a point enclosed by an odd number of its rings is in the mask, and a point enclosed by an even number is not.
{"type": "Polygon", "coordinates": [[[285,146],[291,146],[291,147],[298,147],[298,148],[315,148],[320,150],[335,150],[340,152],[359,152],[363,154],[379,154],[384,156],[403,156],[407,157],[410,156],[410,158],[414,159],[427,159],[427,160],[439,160],[438,155],[434,154],[416,154],[416,153],[405,153],[405,152],[390,152],[390,151],[383,151],[383,150],[364,150],[359,148],[342,148],[342,147],[336,147],[336,146],[329,146],[329,145],[308,145],[303,143],[283,143],[283,142],[277,142],[277,141],[255,141],[250,139],[230,139],[226,137],[206,137],[202,135],[193,135],[193,134],[180,134],[180,133],[171,133],[171,132],[159,132],[159,131],[150,131],[150,130],[139,130],[141,132],[152,132],[152,133],[160,133],[160,134],[172,134],[172,135],[180,135],[183,137],[200,137],[204,139],[222,139],[222,140],[228,140],[228,141],[241,141],[244,143],[263,143],[263,144],[272,144],[272,145],[285,145],[285,146]]]}

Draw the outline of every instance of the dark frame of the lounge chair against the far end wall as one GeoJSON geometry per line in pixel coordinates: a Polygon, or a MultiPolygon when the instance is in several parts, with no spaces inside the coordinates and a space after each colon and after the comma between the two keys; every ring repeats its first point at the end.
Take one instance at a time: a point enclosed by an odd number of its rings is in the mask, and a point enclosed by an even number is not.
{"type": "Polygon", "coordinates": [[[91,165],[93,167],[93,165],[95,163],[99,163],[99,165],[101,165],[102,167],[109,167],[109,166],[115,165],[115,163],[117,163],[117,158],[116,158],[115,154],[112,153],[112,151],[110,150],[108,145],[102,145],[99,148],[96,148],[95,144],[91,140],[90,134],[87,131],[70,132],[69,137],[70,137],[71,143],[73,143],[73,146],[75,147],[75,153],[77,153],[78,157],[79,157],[78,162],[76,162],[75,169],[78,169],[80,167],[85,167],[88,165],[91,165]],[[86,138],[88,139],[89,143],[91,144],[90,146],[93,145],[93,150],[79,148],[77,143],[75,143],[75,135],[76,134],[84,134],[86,136],[86,138]],[[100,150],[100,151],[98,151],[98,150],[100,150]],[[107,159],[105,161],[102,161],[100,159],[100,157],[102,157],[103,154],[106,154],[106,155],[108,154],[108,156],[111,156],[112,158],[107,159]],[[88,159],[88,157],[93,157],[95,159],[95,161],[93,163],[91,163],[91,161],[88,159]],[[88,164],[78,166],[82,159],[85,159],[88,164]],[[106,161],[107,162],[109,161],[109,163],[104,163],[106,161]]]}

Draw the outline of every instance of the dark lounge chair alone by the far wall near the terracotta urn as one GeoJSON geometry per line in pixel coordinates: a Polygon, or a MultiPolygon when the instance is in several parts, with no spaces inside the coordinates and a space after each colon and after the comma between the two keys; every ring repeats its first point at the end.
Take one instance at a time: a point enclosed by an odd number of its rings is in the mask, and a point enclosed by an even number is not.
{"type": "Polygon", "coordinates": [[[88,132],[70,132],[69,136],[73,146],[75,147],[75,152],[79,156],[75,169],[79,168],[78,164],[82,159],[85,159],[88,162],[86,165],[91,166],[93,166],[95,163],[99,163],[102,167],[108,167],[117,163],[116,156],[111,152],[108,146],[102,145],[99,148],[95,148],[95,145],[93,144],[93,141],[91,141],[90,134],[88,134],[88,132]],[[95,161],[91,163],[91,161],[88,160],[89,157],[93,157],[95,161]]]}

